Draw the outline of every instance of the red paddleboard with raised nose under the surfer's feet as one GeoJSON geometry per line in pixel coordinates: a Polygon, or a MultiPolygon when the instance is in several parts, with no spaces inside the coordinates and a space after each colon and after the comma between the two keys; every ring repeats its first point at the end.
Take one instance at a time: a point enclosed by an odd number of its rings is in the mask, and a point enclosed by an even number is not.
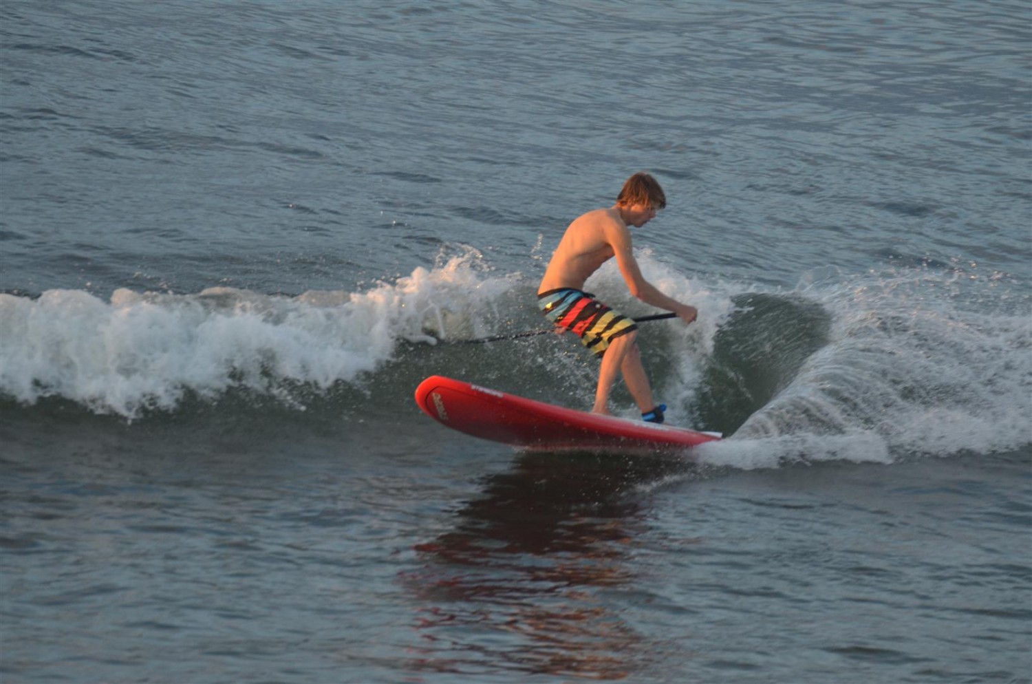
{"type": "Polygon", "coordinates": [[[416,403],[454,430],[534,451],[672,452],[720,438],[717,432],[563,409],[441,376],[420,383],[416,403]]]}

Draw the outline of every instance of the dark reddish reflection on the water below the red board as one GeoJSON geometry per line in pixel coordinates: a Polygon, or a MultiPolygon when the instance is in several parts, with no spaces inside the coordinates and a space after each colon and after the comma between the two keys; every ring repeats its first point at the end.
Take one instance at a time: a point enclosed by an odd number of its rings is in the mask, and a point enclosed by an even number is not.
{"type": "Polygon", "coordinates": [[[635,485],[683,469],[619,456],[521,455],[486,479],[455,528],[417,545],[405,578],[421,608],[415,670],[624,679],[645,640],[620,617],[634,590],[628,551],[643,529],[635,485]]]}

